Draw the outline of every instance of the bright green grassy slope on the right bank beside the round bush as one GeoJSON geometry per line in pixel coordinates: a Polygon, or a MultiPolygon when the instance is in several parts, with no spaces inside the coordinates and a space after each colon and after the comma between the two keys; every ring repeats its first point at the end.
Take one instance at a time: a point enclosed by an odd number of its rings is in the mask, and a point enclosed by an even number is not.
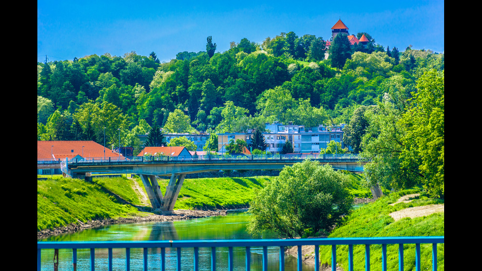
{"type": "MultiPolygon", "coordinates": [[[[354,211],[345,225],[335,229],[329,238],[343,237],[401,237],[401,236],[445,236],[444,213],[434,213],[426,217],[403,218],[394,221],[390,216],[393,211],[408,207],[440,204],[442,200],[420,197],[411,203],[401,203],[391,206],[391,203],[406,194],[416,193],[418,190],[404,190],[382,197],[374,203],[368,204],[354,211]]],[[[438,267],[444,270],[445,244],[437,245],[438,267]]],[[[356,245],[353,249],[355,270],[364,270],[364,245],[356,245]]],[[[422,244],[422,270],[431,269],[431,244],[422,244]]],[[[331,247],[320,248],[322,264],[331,265],[331,247]]],[[[348,269],[348,246],[336,247],[336,259],[341,266],[348,269]]],[[[398,270],[398,245],[387,246],[388,270],[398,270]]],[[[370,246],[370,270],[381,270],[381,245],[370,246]]],[[[415,245],[404,245],[404,270],[415,270],[415,245]]]]}

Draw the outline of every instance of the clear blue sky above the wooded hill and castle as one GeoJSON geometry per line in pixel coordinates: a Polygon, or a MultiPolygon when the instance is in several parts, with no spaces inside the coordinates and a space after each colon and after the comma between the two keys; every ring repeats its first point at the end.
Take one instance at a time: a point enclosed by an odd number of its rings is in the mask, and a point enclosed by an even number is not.
{"type": "Polygon", "coordinates": [[[445,50],[443,0],[37,0],[37,61],[131,51],[169,61],[206,51],[208,36],[216,52],[231,41],[262,43],[289,31],[327,40],[340,18],[350,34],[367,32],[385,48],[445,50]]]}

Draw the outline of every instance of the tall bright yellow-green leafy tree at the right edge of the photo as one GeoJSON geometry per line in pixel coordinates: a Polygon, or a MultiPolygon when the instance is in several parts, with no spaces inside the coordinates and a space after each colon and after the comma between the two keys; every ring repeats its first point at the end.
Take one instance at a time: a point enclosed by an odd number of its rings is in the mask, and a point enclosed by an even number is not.
{"type": "Polygon", "coordinates": [[[418,162],[424,189],[433,197],[445,196],[445,72],[425,72],[417,94],[402,116],[406,127],[402,167],[418,162]]]}

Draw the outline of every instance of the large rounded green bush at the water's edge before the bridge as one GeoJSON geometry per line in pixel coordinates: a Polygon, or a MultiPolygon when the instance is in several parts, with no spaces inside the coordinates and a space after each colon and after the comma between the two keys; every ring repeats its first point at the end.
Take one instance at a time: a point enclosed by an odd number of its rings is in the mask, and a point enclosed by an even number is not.
{"type": "Polygon", "coordinates": [[[285,167],[251,202],[248,231],[271,230],[283,237],[329,232],[353,205],[350,181],[330,165],[305,160],[285,167]]]}

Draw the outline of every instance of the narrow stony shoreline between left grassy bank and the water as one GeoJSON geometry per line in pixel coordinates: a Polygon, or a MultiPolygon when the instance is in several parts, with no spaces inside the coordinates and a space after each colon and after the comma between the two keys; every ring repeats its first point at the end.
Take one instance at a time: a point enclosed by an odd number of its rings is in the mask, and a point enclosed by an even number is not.
{"type": "Polygon", "coordinates": [[[146,216],[120,217],[117,219],[107,218],[107,219],[90,220],[90,221],[87,221],[86,223],[82,223],[81,221],[78,221],[78,223],[71,223],[64,227],[37,231],[37,240],[44,239],[54,235],[74,233],[74,232],[82,231],[84,229],[103,227],[103,226],[117,224],[117,223],[174,221],[174,220],[185,220],[185,219],[201,218],[201,217],[208,217],[208,216],[220,216],[220,215],[224,216],[226,214],[227,214],[226,210],[216,210],[216,211],[175,210],[174,214],[171,214],[171,215],[151,214],[146,216]]]}

